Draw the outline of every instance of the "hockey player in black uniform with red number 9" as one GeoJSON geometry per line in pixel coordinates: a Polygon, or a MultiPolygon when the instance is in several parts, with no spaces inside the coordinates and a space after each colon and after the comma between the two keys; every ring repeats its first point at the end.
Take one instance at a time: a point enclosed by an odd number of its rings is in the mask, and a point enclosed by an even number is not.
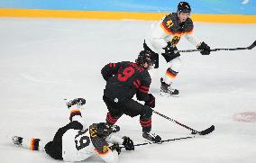
{"type": "Polygon", "coordinates": [[[142,137],[160,141],[160,136],[151,132],[151,108],[155,107],[155,97],[148,93],[151,86],[148,69],[153,63],[151,54],[142,50],[135,63],[122,61],[105,65],[101,70],[106,81],[103,100],[109,111],[106,115],[108,124],[116,126],[114,123],[123,113],[131,117],[140,115],[142,137]],[[133,95],[145,103],[134,100],[133,95]]]}

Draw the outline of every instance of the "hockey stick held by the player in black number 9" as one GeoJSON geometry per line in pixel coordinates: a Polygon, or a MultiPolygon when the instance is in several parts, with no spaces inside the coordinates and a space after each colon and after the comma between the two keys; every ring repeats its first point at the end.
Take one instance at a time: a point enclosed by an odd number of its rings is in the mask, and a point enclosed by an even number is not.
{"type": "Polygon", "coordinates": [[[177,123],[178,125],[180,125],[180,126],[182,126],[182,127],[185,127],[185,128],[188,129],[189,131],[192,131],[192,132],[191,132],[192,134],[206,135],[206,134],[211,133],[212,131],[215,130],[215,126],[212,125],[211,127],[207,128],[207,129],[204,130],[204,131],[196,131],[196,130],[194,130],[194,129],[188,127],[188,126],[185,125],[185,124],[182,124],[182,123],[180,123],[180,122],[178,122],[178,121],[176,121],[176,120],[174,120],[174,119],[169,118],[168,116],[166,116],[166,115],[164,115],[164,114],[162,114],[162,113],[158,113],[158,112],[156,112],[156,111],[154,111],[154,110],[153,110],[153,113],[156,113],[156,114],[160,115],[161,117],[163,117],[163,118],[165,118],[165,119],[167,119],[167,120],[169,120],[169,121],[171,121],[171,122],[175,122],[175,123],[177,123]]]}

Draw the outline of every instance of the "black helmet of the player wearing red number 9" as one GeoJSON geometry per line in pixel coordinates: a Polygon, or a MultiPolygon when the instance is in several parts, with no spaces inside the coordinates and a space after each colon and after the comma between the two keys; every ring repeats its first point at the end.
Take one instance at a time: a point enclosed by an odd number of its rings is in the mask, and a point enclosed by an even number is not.
{"type": "Polygon", "coordinates": [[[135,61],[139,65],[143,65],[145,62],[148,62],[148,64],[152,66],[155,62],[155,59],[151,51],[142,50],[135,61]]]}

